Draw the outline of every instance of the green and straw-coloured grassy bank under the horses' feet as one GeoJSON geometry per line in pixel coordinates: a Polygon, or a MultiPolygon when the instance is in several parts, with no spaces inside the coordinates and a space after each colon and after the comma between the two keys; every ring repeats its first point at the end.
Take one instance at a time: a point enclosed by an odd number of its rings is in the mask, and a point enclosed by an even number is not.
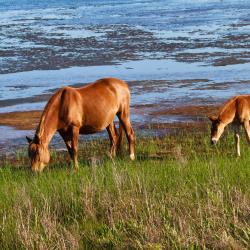
{"type": "Polygon", "coordinates": [[[82,145],[32,175],[23,153],[0,169],[1,249],[232,248],[250,244],[250,149],[188,132],[137,139],[135,162],[82,145]]]}

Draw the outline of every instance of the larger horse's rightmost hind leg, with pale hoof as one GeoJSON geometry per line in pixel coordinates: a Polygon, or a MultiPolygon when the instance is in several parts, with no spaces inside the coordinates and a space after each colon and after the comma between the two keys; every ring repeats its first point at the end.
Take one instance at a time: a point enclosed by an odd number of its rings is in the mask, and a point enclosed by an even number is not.
{"type": "Polygon", "coordinates": [[[130,159],[135,159],[135,135],[134,130],[131,126],[130,119],[129,119],[129,110],[123,110],[118,114],[118,118],[120,120],[120,123],[122,124],[125,134],[127,136],[127,140],[129,143],[129,154],[130,159]]]}

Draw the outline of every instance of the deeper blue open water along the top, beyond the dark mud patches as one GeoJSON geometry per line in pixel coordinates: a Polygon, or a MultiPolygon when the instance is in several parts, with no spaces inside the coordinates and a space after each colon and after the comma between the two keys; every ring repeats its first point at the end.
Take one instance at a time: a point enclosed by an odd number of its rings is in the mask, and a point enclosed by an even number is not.
{"type": "MultiPolygon", "coordinates": [[[[156,29],[226,24],[249,19],[248,0],[158,0],[158,1],[0,1],[0,11],[16,14],[16,20],[57,15],[57,24],[129,24],[156,29]],[[17,11],[17,12],[14,12],[17,11]],[[29,15],[27,15],[29,11],[29,15]]],[[[46,20],[53,23],[55,19],[46,20]]]]}

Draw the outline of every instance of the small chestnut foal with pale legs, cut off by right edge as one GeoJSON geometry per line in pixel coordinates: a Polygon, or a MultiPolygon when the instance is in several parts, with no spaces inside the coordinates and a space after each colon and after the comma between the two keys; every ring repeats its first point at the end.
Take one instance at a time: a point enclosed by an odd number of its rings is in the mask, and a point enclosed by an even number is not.
{"type": "Polygon", "coordinates": [[[232,123],[235,133],[236,152],[240,156],[240,126],[243,125],[247,141],[250,143],[250,95],[235,96],[222,107],[218,116],[210,116],[211,143],[216,144],[225,127],[232,123]]]}

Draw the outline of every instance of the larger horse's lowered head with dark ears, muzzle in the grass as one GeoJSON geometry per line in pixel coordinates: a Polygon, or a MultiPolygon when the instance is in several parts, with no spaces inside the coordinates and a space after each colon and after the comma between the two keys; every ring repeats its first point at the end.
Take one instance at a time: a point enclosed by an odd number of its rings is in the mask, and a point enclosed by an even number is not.
{"type": "Polygon", "coordinates": [[[35,135],[33,140],[29,137],[26,137],[26,139],[29,143],[28,153],[31,160],[31,170],[33,172],[41,172],[50,160],[48,146],[43,145],[37,135],[35,135]]]}

